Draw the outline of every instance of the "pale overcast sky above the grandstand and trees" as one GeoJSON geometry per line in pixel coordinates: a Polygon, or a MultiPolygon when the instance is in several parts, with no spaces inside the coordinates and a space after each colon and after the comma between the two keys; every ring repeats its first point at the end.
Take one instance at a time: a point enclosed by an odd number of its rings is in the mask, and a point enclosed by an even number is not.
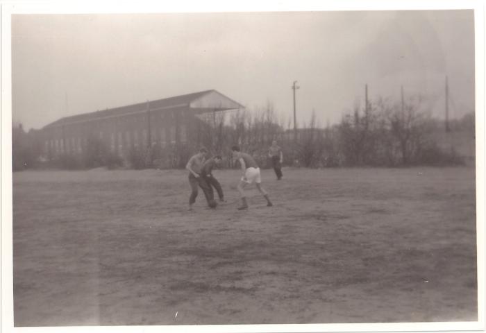
{"type": "Polygon", "coordinates": [[[337,123],[356,101],[424,94],[474,110],[472,10],[13,15],[12,118],[60,117],[216,89],[287,125],[337,123]]]}

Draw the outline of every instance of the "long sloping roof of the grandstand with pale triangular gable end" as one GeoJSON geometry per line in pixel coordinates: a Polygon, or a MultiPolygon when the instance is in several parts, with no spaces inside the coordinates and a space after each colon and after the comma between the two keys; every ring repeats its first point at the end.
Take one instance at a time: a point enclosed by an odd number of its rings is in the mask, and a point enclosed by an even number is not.
{"type": "Polygon", "coordinates": [[[133,114],[139,112],[146,112],[147,108],[151,111],[156,110],[176,110],[180,108],[191,108],[194,110],[233,110],[244,108],[243,105],[229,99],[223,94],[217,92],[215,89],[206,90],[203,92],[194,92],[192,94],[185,94],[180,96],[173,96],[167,99],[158,99],[156,101],[147,101],[144,103],[137,103],[132,105],[121,106],[118,108],[111,108],[101,111],[76,114],[74,116],[63,117],[58,119],[44,128],[51,128],[57,126],[67,125],[69,123],[78,123],[83,121],[92,121],[107,117],[117,117],[124,114],[133,114]]]}

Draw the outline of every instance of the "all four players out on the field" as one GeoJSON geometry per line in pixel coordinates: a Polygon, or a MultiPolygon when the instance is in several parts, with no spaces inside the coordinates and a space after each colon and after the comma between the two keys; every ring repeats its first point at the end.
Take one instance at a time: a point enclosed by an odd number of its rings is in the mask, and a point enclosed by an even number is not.
{"type": "MultiPolygon", "coordinates": [[[[242,204],[238,207],[238,210],[248,209],[248,202],[246,200],[246,195],[244,192],[244,187],[255,182],[256,188],[260,191],[260,194],[267,200],[267,206],[273,206],[267,191],[262,187],[262,178],[260,175],[260,168],[255,162],[253,157],[247,153],[240,151],[239,146],[231,147],[233,160],[240,162],[240,167],[242,170],[242,178],[237,185],[237,189],[240,192],[240,198],[242,204]]],[[[277,145],[277,142],[272,142],[269,148],[269,156],[274,165],[274,171],[277,176],[277,180],[281,180],[282,174],[282,162],[283,153],[282,149],[277,145]]],[[[225,202],[223,189],[221,184],[212,175],[212,169],[221,165],[222,158],[221,155],[215,155],[214,157],[208,158],[208,150],[206,148],[200,148],[199,152],[192,156],[187,162],[185,169],[189,171],[189,184],[191,186],[192,192],[189,198],[189,210],[192,210],[192,205],[196,202],[196,197],[198,194],[198,187],[203,190],[208,206],[215,208],[217,203],[215,201],[214,189],[217,191],[219,196],[219,201],[225,202]]]]}

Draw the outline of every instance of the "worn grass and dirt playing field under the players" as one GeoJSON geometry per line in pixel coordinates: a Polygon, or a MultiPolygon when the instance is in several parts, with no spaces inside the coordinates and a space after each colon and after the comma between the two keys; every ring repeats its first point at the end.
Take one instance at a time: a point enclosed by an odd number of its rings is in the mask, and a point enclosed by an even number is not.
{"type": "Polygon", "coordinates": [[[476,321],[473,168],[13,175],[16,326],[476,321]]]}

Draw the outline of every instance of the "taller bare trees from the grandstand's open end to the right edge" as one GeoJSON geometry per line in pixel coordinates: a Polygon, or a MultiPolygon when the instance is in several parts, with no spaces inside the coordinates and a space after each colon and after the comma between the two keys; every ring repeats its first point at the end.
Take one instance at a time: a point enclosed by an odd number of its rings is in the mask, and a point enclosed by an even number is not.
{"type": "MultiPolygon", "coordinates": [[[[195,140],[212,153],[226,155],[232,167],[231,144],[240,144],[263,167],[269,166],[268,148],[274,139],[283,148],[287,165],[302,167],[396,167],[419,164],[459,164],[462,156],[453,145],[444,148],[441,137],[444,123],[424,110],[421,96],[397,103],[377,99],[361,107],[356,103],[340,123],[321,128],[315,112],[297,131],[294,139],[290,123],[287,130],[276,118],[271,104],[249,112],[215,114],[204,119],[195,140]]],[[[471,133],[474,142],[474,113],[449,123],[453,131],[471,133]]],[[[443,139],[443,137],[442,137],[443,139]]],[[[192,147],[192,151],[196,150],[192,147]]]]}

